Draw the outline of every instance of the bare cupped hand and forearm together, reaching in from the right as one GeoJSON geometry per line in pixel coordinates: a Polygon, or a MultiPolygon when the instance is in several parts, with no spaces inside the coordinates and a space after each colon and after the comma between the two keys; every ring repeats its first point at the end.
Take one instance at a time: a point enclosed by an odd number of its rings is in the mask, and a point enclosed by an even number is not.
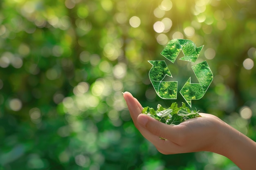
{"type": "Polygon", "coordinates": [[[256,168],[256,142],[218,117],[200,113],[202,117],[168,125],[141,114],[142,106],[131,93],[125,92],[124,99],[135,127],[162,154],[209,151],[224,155],[241,170],[256,168]]]}

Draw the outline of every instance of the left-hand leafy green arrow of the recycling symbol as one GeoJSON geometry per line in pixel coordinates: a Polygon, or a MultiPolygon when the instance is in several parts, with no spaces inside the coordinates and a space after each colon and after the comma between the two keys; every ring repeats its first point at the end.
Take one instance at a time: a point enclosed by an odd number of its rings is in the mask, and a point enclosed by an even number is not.
{"type": "Polygon", "coordinates": [[[149,71],[149,79],[155,92],[162,99],[177,99],[178,82],[166,82],[163,79],[167,76],[172,77],[171,72],[164,60],[148,61],[152,64],[149,71]]]}

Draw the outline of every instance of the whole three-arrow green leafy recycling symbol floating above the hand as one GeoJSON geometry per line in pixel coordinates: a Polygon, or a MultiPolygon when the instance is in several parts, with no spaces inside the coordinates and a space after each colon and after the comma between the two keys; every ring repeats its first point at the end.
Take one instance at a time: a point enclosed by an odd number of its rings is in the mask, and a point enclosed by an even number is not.
{"type": "MultiPolygon", "coordinates": [[[[173,39],[168,42],[161,55],[174,63],[180,51],[182,51],[184,57],[180,60],[195,63],[202,48],[203,46],[197,47],[191,40],[173,39]]],[[[149,79],[157,95],[162,99],[177,99],[178,82],[163,81],[166,76],[172,77],[165,60],[150,60],[148,62],[152,64],[149,79]]],[[[180,94],[190,107],[191,100],[201,99],[213,80],[213,73],[206,61],[193,65],[192,69],[199,83],[191,83],[191,77],[189,77],[180,90],[180,94]]]]}

